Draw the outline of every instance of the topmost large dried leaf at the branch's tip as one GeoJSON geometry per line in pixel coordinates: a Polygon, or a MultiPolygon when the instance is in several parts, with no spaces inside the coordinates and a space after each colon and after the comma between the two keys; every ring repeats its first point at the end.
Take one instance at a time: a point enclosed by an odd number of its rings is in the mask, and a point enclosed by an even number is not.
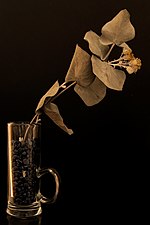
{"type": "Polygon", "coordinates": [[[101,29],[100,40],[104,45],[120,45],[135,37],[135,29],[130,22],[130,14],[126,9],[121,10],[111,21],[101,29]]]}

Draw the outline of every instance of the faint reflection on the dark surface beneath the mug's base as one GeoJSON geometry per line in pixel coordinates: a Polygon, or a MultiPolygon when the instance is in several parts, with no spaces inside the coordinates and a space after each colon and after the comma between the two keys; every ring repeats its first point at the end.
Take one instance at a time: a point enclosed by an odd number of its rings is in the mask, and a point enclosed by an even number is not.
{"type": "Polygon", "coordinates": [[[27,219],[20,219],[14,216],[7,216],[8,225],[41,225],[41,216],[35,216],[27,219]]]}

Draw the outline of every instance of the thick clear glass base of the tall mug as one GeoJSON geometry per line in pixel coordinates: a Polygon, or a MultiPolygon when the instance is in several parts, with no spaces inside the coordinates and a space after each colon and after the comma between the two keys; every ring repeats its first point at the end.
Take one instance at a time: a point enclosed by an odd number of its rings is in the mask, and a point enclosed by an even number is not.
{"type": "Polygon", "coordinates": [[[34,203],[27,206],[16,206],[12,203],[8,203],[6,213],[18,218],[29,218],[41,215],[42,208],[40,203],[34,203]]]}

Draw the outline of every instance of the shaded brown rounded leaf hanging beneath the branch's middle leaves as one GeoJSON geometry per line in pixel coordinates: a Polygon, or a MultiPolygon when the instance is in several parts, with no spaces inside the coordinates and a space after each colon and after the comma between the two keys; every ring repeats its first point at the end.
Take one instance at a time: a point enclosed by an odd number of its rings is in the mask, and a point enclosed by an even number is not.
{"type": "Polygon", "coordinates": [[[87,106],[99,103],[106,95],[106,86],[97,77],[88,87],[76,84],[74,90],[87,106]]]}

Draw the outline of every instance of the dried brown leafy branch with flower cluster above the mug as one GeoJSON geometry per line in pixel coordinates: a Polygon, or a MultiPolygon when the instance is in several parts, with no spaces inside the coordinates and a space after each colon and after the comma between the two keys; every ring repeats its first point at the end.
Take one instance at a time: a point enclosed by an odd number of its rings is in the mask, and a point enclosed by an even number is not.
{"type": "Polygon", "coordinates": [[[35,116],[30,124],[40,120],[45,113],[56,125],[73,134],[60,115],[54,100],[70,87],[80,96],[87,106],[93,106],[105,97],[107,88],[121,91],[126,80],[126,73],[135,74],[141,68],[141,60],[135,58],[126,42],[135,37],[135,29],[126,9],[121,10],[101,29],[101,35],[88,31],[84,40],[88,42],[91,55],[76,45],[75,52],[67,71],[65,81],[59,85],[58,80],[40,99],[35,116]],[[114,47],[121,48],[118,59],[109,61],[114,47]]]}

